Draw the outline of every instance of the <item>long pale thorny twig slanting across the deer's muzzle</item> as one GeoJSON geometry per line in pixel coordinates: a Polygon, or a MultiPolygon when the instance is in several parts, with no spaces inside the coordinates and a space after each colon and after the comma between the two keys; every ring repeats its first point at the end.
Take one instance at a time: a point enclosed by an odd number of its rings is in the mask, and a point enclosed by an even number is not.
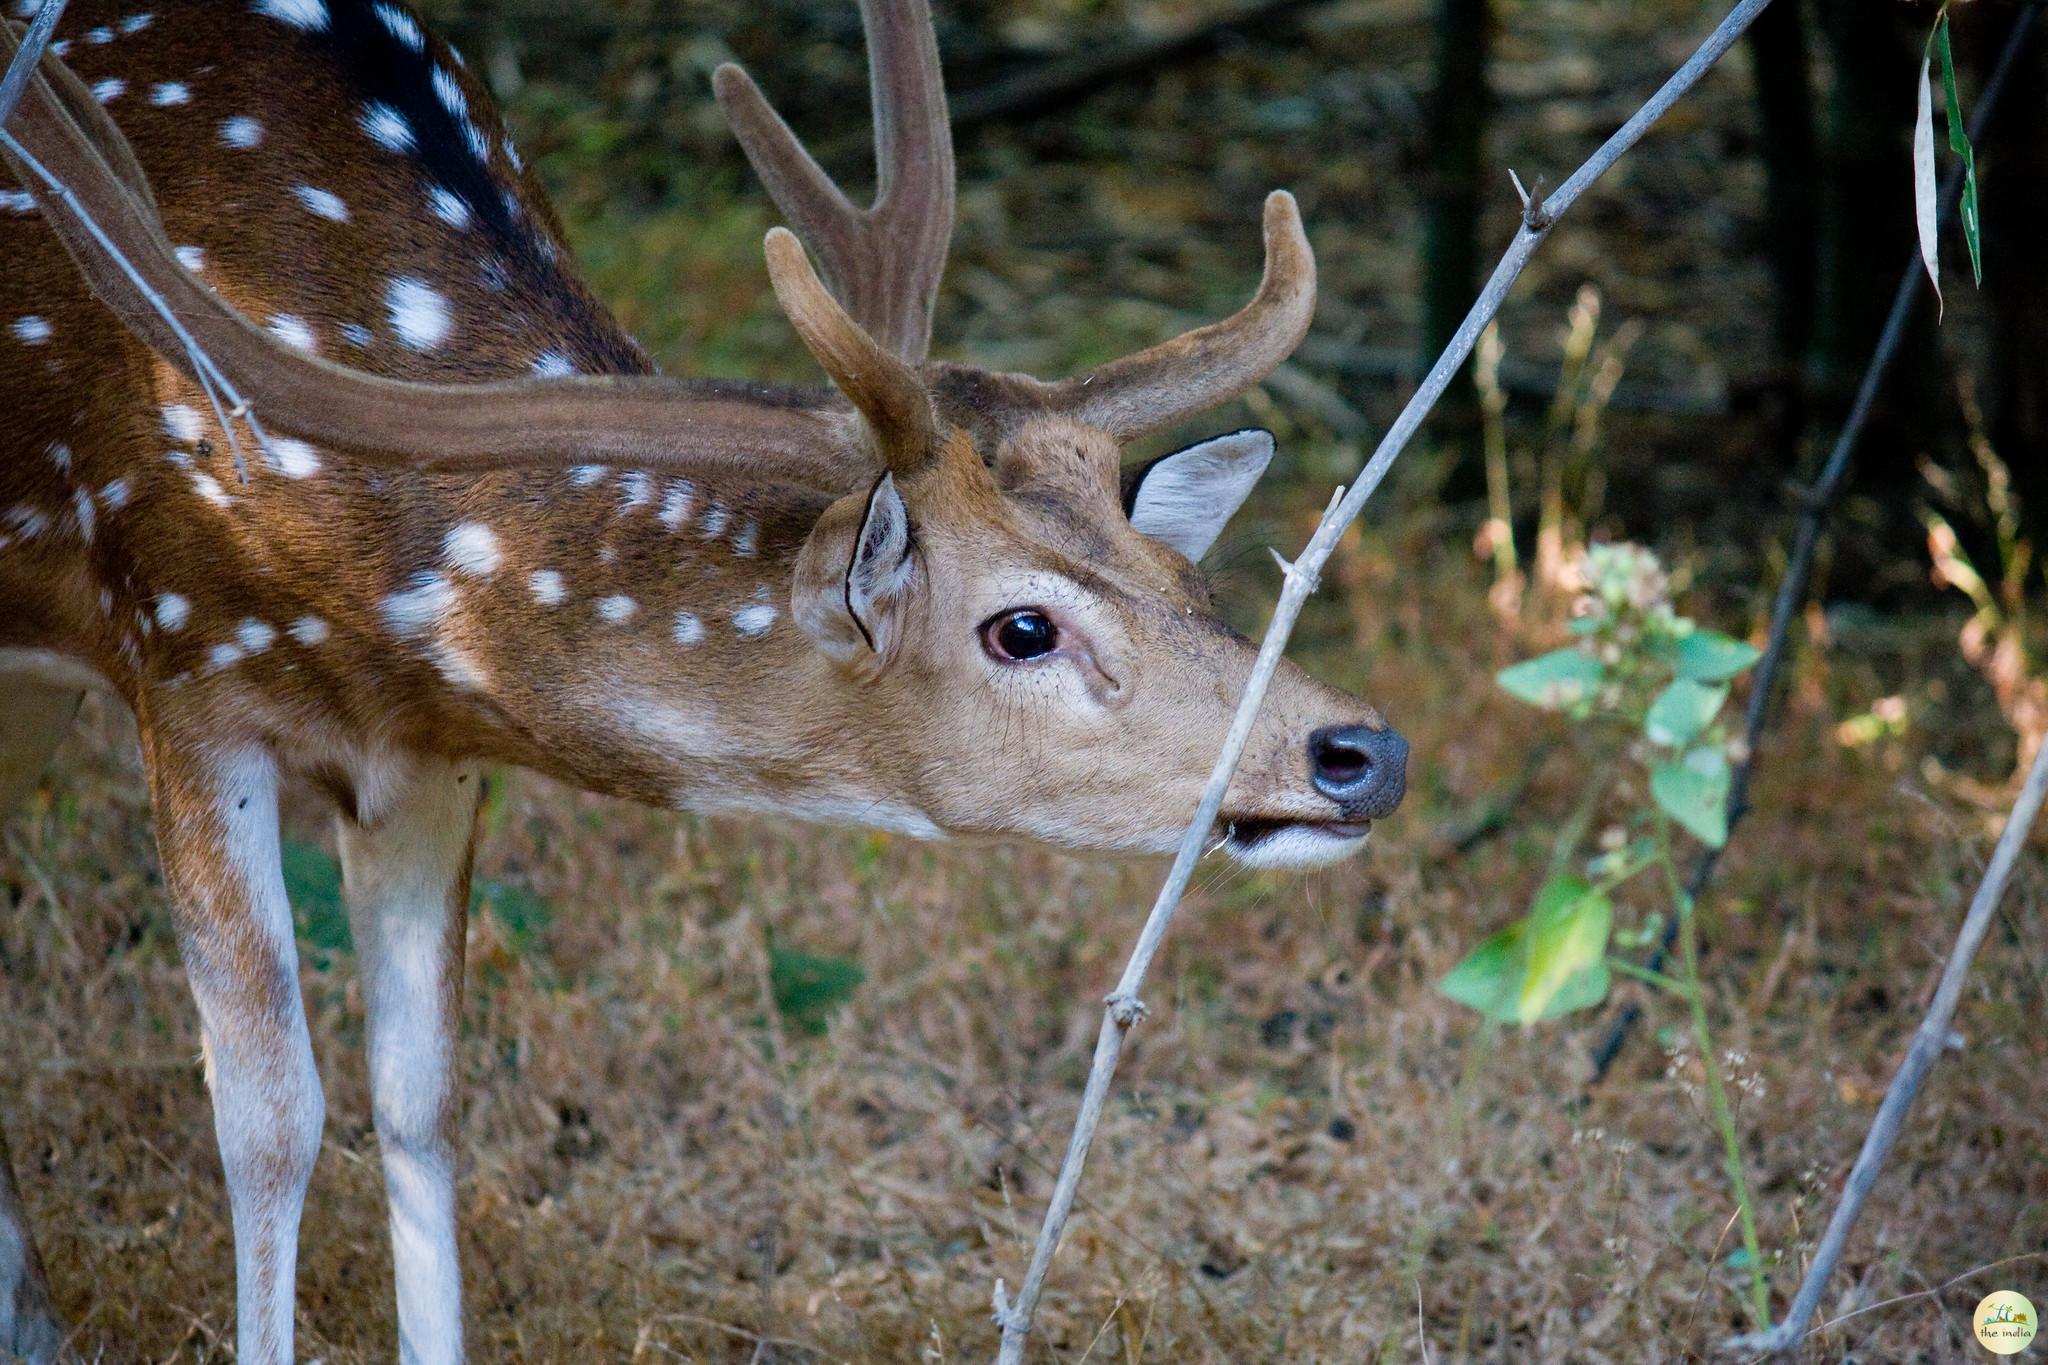
{"type": "Polygon", "coordinates": [[[1001,1324],[1001,1351],[997,1355],[997,1365],[1022,1365],[1024,1361],[1024,1340],[1030,1334],[1032,1316],[1038,1310],[1038,1295],[1044,1289],[1044,1277],[1053,1265],[1053,1252],[1059,1248],[1061,1232],[1065,1232],[1067,1216],[1073,1209],[1073,1195],[1081,1183],[1081,1166],[1087,1160],[1087,1148],[1094,1142],[1096,1124],[1102,1119],[1102,1105],[1108,1099],[1110,1078],[1116,1074],[1116,1062],[1122,1056],[1124,1036],[1137,1025],[1139,1019],[1145,1017],[1145,1003],[1139,999],[1139,988],[1145,984],[1145,972],[1151,968],[1153,954],[1159,952],[1159,943],[1174,919],[1174,911],[1180,905],[1182,894],[1188,890],[1188,880],[1194,876],[1196,860],[1210,843],[1217,812],[1223,808],[1223,794],[1231,784],[1231,776],[1237,772],[1237,759],[1251,735],[1251,722],[1257,716],[1260,704],[1266,700],[1266,690],[1272,686],[1274,671],[1280,667],[1280,657],[1294,630],[1294,620],[1300,616],[1300,608],[1309,600],[1309,593],[1315,591],[1317,575],[1329,561],[1329,555],[1337,548],[1337,538],[1354,520],[1358,520],[1366,499],[1380,487],[1380,481],[1386,477],[1386,471],[1393,469],[1395,458],[1403,448],[1407,448],[1409,440],[1413,440],[1423,417],[1444,395],[1444,389],[1450,387],[1452,377],[1464,360],[1473,354],[1479,334],[1493,321],[1493,315],[1501,311],[1501,303],[1505,303],[1509,287],[1522,274],[1522,268],[1528,266],[1536,248],[1550,235],[1556,219],[1567,213],[1579,196],[1585,194],[1585,190],[1622,158],[1622,153],[1634,147],[1651,125],[1679,100],[1679,96],[1683,96],[1702,76],[1706,76],[1708,70],[1712,70],[1735,39],[1741,37],[1743,29],[1747,29],[1767,4],[1769,0],[1741,0],[1729,16],[1720,20],[1720,27],[1716,27],[1700,49],[1686,61],[1686,65],[1681,65],[1671,80],[1657,90],[1657,94],[1630,115],[1628,123],[1616,129],[1614,135],[1608,137],[1608,141],[1602,143],[1599,149],[1556,188],[1554,194],[1526,203],[1520,231],[1516,231],[1513,241],[1507,246],[1507,254],[1501,256],[1501,264],[1493,268],[1493,276],[1479,293],[1470,313],[1466,313],[1464,321],[1458,323],[1458,332],[1450,338],[1444,354],[1438,356],[1434,366],[1430,366],[1430,375],[1423,377],[1421,387],[1409,399],[1407,407],[1401,409],[1401,415],[1395,420],[1393,428],[1389,428],[1386,436],[1372,452],[1372,458],[1358,471],[1358,479],[1352,487],[1339,487],[1331,495],[1329,508],[1323,512],[1323,520],[1317,524],[1315,534],[1309,536],[1307,548],[1303,548],[1300,557],[1286,567],[1280,602],[1274,606],[1272,622],[1266,626],[1260,657],[1251,665],[1251,677],[1237,704],[1237,716],[1231,720],[1229,735],[1223,741],[1223,751],[1217,755],[1217,765],[1208,776],[1208,788],[1202,792],[1194,819],[1188,823],[1188,829],[1180,839],[1180,851],[1174,855],[1174,868],[1167,872],[1165,884],[1159,888],[1159,896],[1153,900],[1151,913],[1145,917],[1145,927],[1130,952],[1130,962],[1124,964],[1124,974],[1116,982],[1116,990],[1104,1001],[1102,1029],[1096,1036],[1096,1056],[1087,1072],[1087,1087],[1081,1091],[1081,1111],[1073,1124],[1073,1138],[1067,1142],[1067,1158],[1061,1162],[1059,1183],[1053,1187],[1053,1199],[1047,1205],[1044,1224],[1038,1228],[1038,1244],[1032,1248],[1024,1283],[1020,1285],[1014,1302],[1006,1293],[1004,1283],[995,1283],[995,1320],[1001,1324]]]}

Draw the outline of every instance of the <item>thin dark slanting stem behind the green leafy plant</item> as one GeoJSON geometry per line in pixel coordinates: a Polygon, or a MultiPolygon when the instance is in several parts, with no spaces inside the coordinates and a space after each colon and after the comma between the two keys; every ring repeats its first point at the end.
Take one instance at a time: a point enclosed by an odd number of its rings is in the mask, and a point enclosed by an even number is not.
{"type": "MultiPolygon", "coordinates": [[[[2025,37],[2034,27],[2034,16],[2038,6],[2021,6],[2013,14],[2013,29],[2005,37],[2005,51],[1999,53],[1999,63],[1991,72],[1991,80],[1985,82],[1985,92],[1976,100],[1976,111],[1970,115],[1970,141],[1976,143],[1989,127],[1991,111],[1999,102],[1999,92],[2005,88],[2005,76],[2013,70],[2013,61],[2019,49],[2025,45],[2025,37]]],[[[1956,205],[1962,199],[1962,166],[1950,168],[1948,180],[1942,184],[1942,205],[1939,223],[1954,217],[1956,205]]],[[[1759,741],[1763,739],[1763,722],[1769,718],[1772,700],[1778,692],[1778,675],[1784,671],[1786,655],[1790,653],[1792,618],[1798,616],[1800,608],[1806,604],[1806,583],[1812,579],[1812,559],[1821,546],[1821,532],[1827,530],[1827,514],[1835,505],[1835,497],[1841,493],[1841,485],[1849,477],[1849,469],[1855,460],[1855,444],[1864,438],[1864,428],[1870,424],[1870,413],[1878,401],[1878,389],[1884,385],[1884,377],[1892,368],[1892,358],[1898,354],[1898,344],[1905,342],[1907,323],[1913,319],[1913,307],[1919,303],[1921,287],[1927,282],[1925,268],[1919,260],[1919,250],[1913,252],[1905,272],[1898,276],[1898,289],[1892,291],[1892,311],[1884,319],[1884,332],[1878,334],[1878,348],[1870,354],[1870,364],[1864,368],[1864,383],[1855,389],[1855,401],[1849,405],[1849,420],[1841,424],[1841,434],[1835,436],[1835,446],[1827,454],[1827,463],[1821,467],[1821,477],[1815,479],[1810,489],[1800,495],[1800,522],[1792,538],[1792,559],[1786,561],[1786,575],[1778,583],[1778,598],[1772,602],[1772,628],[1763,643],[1763,659],[1757,663],[1755,681],[1749,688],[1749,706],[1743,714],[1743,745],[1747,747],[1743,761],[1735,765],[1735,774],[1729,782],[1729,833],[1749,814],[1749,778],[1755,772],[1759,741]]],[[[1726,849],[1704,849],[1700,862],[1694,864],[1692,876],[1686,878],[1686,892],[1694,898],[1706,890],[1706,884],[1714,878],[1714,870],[1720,866],[1720,853],[1726,849]]],[[[1653,972],[1663,970],[1665,960],[1671,956],[1671,943],[1677,939],[1677,921],[1665,925],[1663,939],[1651,954],[1649,966],[1653,972]]],[[[1628,1042],[1630,1031],[1634,1031],[1636,1021],[1642,1017],[1640,1005],[1628,1005],[1614,1017],[1608,1025],[1606,1036],[1599,1046],[1593,1048],[1593,1076],[1587,1085],[1599,1085],[1608,1068],[1614,1066],[1614,1058],[1620,1056],[1622,1046],[1628,1042]]]]}

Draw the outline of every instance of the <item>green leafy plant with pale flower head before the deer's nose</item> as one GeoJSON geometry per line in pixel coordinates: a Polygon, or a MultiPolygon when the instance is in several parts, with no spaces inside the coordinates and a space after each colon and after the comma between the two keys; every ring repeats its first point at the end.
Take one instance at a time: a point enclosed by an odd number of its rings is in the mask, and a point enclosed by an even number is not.
{"type": "Polygon", "coordinates": [[[1647,548],[1595,544],[1575,569],[1583,591],[1569,630],[1577,643],[1501,669],[1499,684],[1575,724],[1589,755],[1585,788],[1528,915],[1466,954],[1438,988],[1487,1019],[1522,1025],[1599,1005],[1616,972],[1686,1001],[1741,1212],[1739,1265],[1749,1271],[1751,1310],[1767,1326],[1753,1203],[1700,984],[1694,902],[1675,862],[1677,831],[1710,847],[1729,839],[1729,786],[1741,757],[1724,718],[1729,684],[1759,655],[1673,612],[1671,581],[1647,548]],[[1616,800],[1626,806],[1589,853],[1583,845],[1593,817],[1616,800]],[[1665,911],[1647,909],[1638,925],[1616,927],[1620,892],[1640,880],[1657,886],[1665,911]],[[1612,956],[1614,941],[1657,937],[1665,913],[1677,919],[1677,974],[1612,956]]]}

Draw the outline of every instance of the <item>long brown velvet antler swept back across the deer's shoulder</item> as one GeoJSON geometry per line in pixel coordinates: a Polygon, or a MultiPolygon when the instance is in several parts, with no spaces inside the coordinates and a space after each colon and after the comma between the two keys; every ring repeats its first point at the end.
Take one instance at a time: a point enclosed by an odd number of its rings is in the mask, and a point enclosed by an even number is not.
{"type": "MultiPolygon", "coordinates": [[[[0,25],[0,59],[14,47],[12,31],[0,25]]],[[[129,329],[201,385],[225,379],[266,426],[291,436],[408,467],[616,460],[760,473],[770,458],[793,481],[821,489],[848,481],[850,471],[831,458],[834,413],[748,385],[647,377],[424,385],[291,350],[176,260],[127,139],[55,57],[43,59],[10,127],[0,129],[0,153],[41,203],[92,293],[129,329]]]]}

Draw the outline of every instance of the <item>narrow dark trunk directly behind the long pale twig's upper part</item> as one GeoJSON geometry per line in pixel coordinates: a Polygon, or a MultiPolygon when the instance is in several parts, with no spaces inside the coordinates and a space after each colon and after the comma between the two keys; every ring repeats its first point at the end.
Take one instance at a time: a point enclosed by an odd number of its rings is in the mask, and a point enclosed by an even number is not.
{"type": "MultiPolygon", "coordinates": [[[[1436,0],[1436,88],[1430,94],[1427,196],[1421,246],[1423,364],[1450,342],[1479,293],[1479,166],[1487,141],[1487,57],[1493,16],[1487,0],[1436,0]]],[[[1481,487],[1473,366],[1458,370],[1436,409],[1436,426],[1464,446],[1452,487],[1481,487]]]]}

